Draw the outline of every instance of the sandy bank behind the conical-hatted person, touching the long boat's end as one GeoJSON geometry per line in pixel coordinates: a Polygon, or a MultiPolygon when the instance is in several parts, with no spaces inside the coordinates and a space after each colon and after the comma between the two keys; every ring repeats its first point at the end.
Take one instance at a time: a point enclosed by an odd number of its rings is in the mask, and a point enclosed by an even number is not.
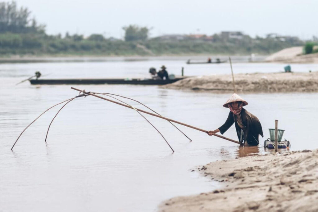
{"type": "MultiPolygon", "coordinates": [[[[318,72],[235,74],[240,92],[318,92],[318,72]]],[[[232,75],[191,77],[164,85],[170,89],[233,92],[232,75]]]]}

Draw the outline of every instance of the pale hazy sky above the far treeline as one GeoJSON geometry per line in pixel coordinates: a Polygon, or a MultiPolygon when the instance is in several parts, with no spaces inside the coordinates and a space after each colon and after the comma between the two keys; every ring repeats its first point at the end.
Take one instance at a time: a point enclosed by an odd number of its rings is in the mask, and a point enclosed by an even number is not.
{"type": "MultiPolygon", "coordinates": [[[[3,0],[2,0],[3,1],[3,0]]],[[[243,31],[310,39],[318,36],[318,0],[16,0],[31,10],[48,34],[92,33],[122,38],[123,26],[153,27],[150,36],[163,34],[243,31]]]]}

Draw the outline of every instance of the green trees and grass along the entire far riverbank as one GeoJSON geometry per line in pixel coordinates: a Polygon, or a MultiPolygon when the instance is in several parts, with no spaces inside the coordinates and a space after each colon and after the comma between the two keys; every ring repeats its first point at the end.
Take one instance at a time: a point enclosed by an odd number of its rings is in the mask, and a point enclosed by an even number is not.
{"type": "Polygon", "coordinates": [[[200,38],[183,36],[182,39],[149,38],[149,28],[129,25],[123,27],[125,40],[105,38],[101,34],[83,35],[66,33],[64,37],[48,35],[45,25],[30,17],[27,8],[17,8],[15,2],[0,2],[0,56],[12,55],[167,55],[167,54],[270,54],[281,49],[304,45],[294,39],[273,37],[228,38],[220,34],[200,38]],[[209,39],[206,39],[209,38],[209,39]]]}

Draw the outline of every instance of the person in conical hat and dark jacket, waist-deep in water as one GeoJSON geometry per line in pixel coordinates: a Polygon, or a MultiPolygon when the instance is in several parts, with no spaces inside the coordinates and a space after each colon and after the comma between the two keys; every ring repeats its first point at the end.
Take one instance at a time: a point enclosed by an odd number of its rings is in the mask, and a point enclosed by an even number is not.
{"type": "Polygon", "coordinates": [[[243,108],[248,103],[242,99],[236,93],[226,101],[223,107],[230,108],[229,116],[225,123],[216,130],[209,131],[208,135],[220,132],[225,133],[233,123],[235,123],[236,133],[239,138],[239,142],[242,144],[247,143],[250,146],[256,146],[259,144],[259,135],[263,137],[262,126],[256,116],[248,112],[243,108]]]}

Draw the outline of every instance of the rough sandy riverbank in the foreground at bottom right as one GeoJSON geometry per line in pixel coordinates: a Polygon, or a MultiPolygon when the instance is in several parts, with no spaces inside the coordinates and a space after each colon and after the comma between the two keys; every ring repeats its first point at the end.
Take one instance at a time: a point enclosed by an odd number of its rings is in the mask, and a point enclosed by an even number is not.
{"type": "Polygon", "coordinates": [[[318,150],[216,161],[196,170],[223,187],[169,199],[160,212],[318,211],[318,150]]]}

